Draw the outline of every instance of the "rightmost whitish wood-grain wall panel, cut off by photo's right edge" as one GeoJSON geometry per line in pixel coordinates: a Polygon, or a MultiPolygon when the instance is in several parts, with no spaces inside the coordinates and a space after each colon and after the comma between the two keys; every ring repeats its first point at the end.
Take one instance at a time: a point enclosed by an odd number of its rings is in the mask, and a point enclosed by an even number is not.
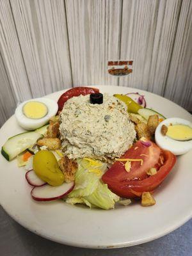
{"type": "Polygon", "coordinates": [[[183,0],[164,97],[192,111],[192,1],[183,0]]]}

